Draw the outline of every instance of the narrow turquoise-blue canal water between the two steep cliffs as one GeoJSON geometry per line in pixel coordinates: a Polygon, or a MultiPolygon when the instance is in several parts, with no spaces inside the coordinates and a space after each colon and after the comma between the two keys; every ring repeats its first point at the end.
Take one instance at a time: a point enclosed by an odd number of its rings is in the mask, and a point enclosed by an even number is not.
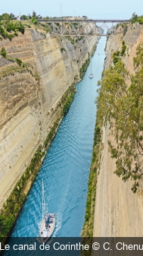
{"type": "Polygon", "coordinates": [[[99,40],[95,55],[81,82],[76,84],[72,105],[61,122],[42,168],[28,194],[11,236],[39,236],[42,220],[42,179],[48,211],[56,214],[54,236],[79,237],[85,217],[89,166],[95,129],[97,82],[104,68],[106,37],[99,40]]]}

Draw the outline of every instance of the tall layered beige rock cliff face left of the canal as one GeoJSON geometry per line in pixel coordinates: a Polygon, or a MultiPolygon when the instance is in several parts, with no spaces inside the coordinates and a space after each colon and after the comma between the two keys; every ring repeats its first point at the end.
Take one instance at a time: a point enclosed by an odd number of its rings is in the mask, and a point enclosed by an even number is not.
{"type": "Polygon", "coordinates": [[[79,69],[96,43],[91,36],[72,44],[35,29],[0,41],[8,55],[32,65],[18,71],[16,62],[0,57],[0,206],[44,144],[60,115],[55,109],[61,96],[79,80],[79,69]]]}

